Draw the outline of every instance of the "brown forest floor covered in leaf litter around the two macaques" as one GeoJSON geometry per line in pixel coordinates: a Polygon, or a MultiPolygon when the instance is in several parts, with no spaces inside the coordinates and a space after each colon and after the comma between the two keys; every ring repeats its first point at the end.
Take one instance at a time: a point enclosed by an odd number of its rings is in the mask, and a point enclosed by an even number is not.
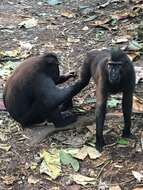
{"type": "MultiPolygon", "coordinates": [[[[127,1],[118,0],[106,2],[95,2],[92,0],[87,2],[42,0],[38,3],[34,1],[21,1],[21,4],[16,4],[16,1],[4,2],[6,6],[3,6],[0,17],[2,18],[0,32],[4,31],[4,33],[1,34],[1,36],[4,37],[0,39],[0,59],[2,60],[2,62],[0,62],[0,77],[5,81],[7,76],[15,69],[15,66],[19,64],[17,60],[19,61],[30,55],[46,51],[58,53],[61,60],[64,60],[62,65],[65,71],[71,68],[75,68],[75,70],[78,71],[86,51],[95,48],[109,47],[114,43],[118,43],[121,47],[126,49],[128,55],[134,61],[135,69],[138,67],[138,69],[136,69],[136,83],[138,88],[138,85],[142,85],[142,24],[140,21],[143,7],[140,3],[141,1],[132,1],[129,5],[127,1]],[[13,14],[10,14],[11,12],[5,9],[7,6],[11,6],[13,14]],[[16,12],[16,6],[19,7],[18,12],[16,12]],[[24,12],[24,10],[26,12],[24,12]],[[9,35],[10,31],[11,35],[9,35]]],[[[94,97],[96,90],[93,90],[92,95],[89,89],[95,88],[87,88],[83,91],[82,96],[76,99],[77,104],[82,102],[81,106],[79,106],[79,110],[82,110],[81,114],[85,114],[87,110],[93,111],[96,104],[94,97]],[[91,96],[89,99],[87,98],[86,101],[84,97],[87,97],[87,94],[91,94],[91,96]]],[[[137,128],[137,139],[135,143],[139,143],[142,146],[142,135],[140,135],[142,134],[143,122],[142,116],[140,115],[142,114],[142,87],[139,87],[139,91],[135,92],[136,98],[133,100],[133,110],[135,111],[133,113],[132,126],[133,128],[137,128]]],[[[118,100],[118,98],[115,99],[118,100]]],[[[109,110],[114,111],[121,107],[120,100],[116,102],[111,98],[109,102],[109,110]]],[[[118,139],[120,139],[120,141],[118,141],[118,146],[112,146],[112,144],[110,147],[107,146],[101,155],[96,152],[94,147],[89,146],[89,144],[87,145],[87,142],[84,140],[81,144],[78,142],[80,148],[73,148],[70,141],[67,141],[67,144],[58,141],[58,150],[62,150],[66,154],[66,159],[64,160],[66,160],[65,163],[69,163],[66,165],[61,165],[61,161],[59,162],[59,154],[55,153],[57,157],[54,157],[53,152],[46,151],[48,154],[44,153],[44,157],[41,158],[42,163],[45,162],[42,172],[48,174],[48,176],[51,175],[51,181],[45,181],[45,179],[47,179],[45,175],[40,174],[41,163],[36,161],[34,155],[35,153],[37,154],[37,148],[41,152],[43,146],[47,149],[52,142],[55,143],[57,140],[49,137],[46,142],[38,146],[36,145],[35,148],[29,147],[24,143],[24,139],[19,140],[23,134],[21,128],[18,126],[18,128],[16,128],[17,131],[11,133],[11,129],[14,128],[14,121],[11,120],[6,113],[2,112],[1,116],[4,122],[0,124],[0,127],[3,131],[8,130],[6,137],[1,135],[0,139],[2,141],[0,144],[5,144],[5,148],[0,149],[0,189],[8,189],[7,185],[11,185],[13,189],[17,189],[17,185],[19,184],[21,184],[18,186],[19,189],[25,189],[24,184],[26,183],[30,185],[30,189],[37,190],[43,187],[50,190],[61,190],[63,186],[68,189],[69,186],[74,186],[72,183],[80,184],[77,189],[81,187],[82,189],[90,190],[95,188],[119,189],[120,187],[125,190],[141,189],[137,185],[139,180],[142,180],[142,176],[140,176],[143,170],[141,163],[143,159],[142,152],[135,152],[136,150],[131,146],[132,143],[130,143],[130,141],[127,144],[121,140],[122,138],[119,138],[121,129],[118,130],[118,126],[113,123],[118,122],[121,126],[120,128],[122,128],[123,121],[121,115],[118,116],[117,120],[114,117],[110,120],[106,120],[105,125],[107,130],[110,126],[110,133],[105,134],[105,140],[112,140],[114,136],[114,142],[117,142],[118,139]],[[72,147],[71,152],[67,151],[69,147],[72,147]],[[104,154],[106,154],[105,158],[104,154]],[[78,155],[79,158],[76,158],[75,155],[78,155]],[[70,161],[67,161],[68,159],[70,161]],[[71,167],[71,163],[74,159],[79,163],[78,172],[71,167]],[[13,160],[17,163],[15,167],[13,160]],[[106,165],[107,160],[112,161],[112,163],[106,165]],[[27,166],[27,162],[29,162],[28,165],[30,167],[27,166]],[[12,168],[10,165],[12,165],[12,168]],[[119,165],[123,167],[117,167],[119,165]],[[94,170],[94,175],[90,173],[91,168],[94,170]],[[131,171],[134,171],[136,177],[132,175],[131,171]],[[137,172],[136,174],[135,171],[137,172]],[[106,175],[107,172],[108,175],[106,175]],[[5,173],[7,173],[7,175],[5,175],[5,173]],[[62,180],[66,178],[66,176],[70,176],[68,182],[70,185],[63,183],[63,186],[61,186],[62,180]],[[97,176],[99,176],[100,179],[97,179],[97,176]],[[133,178],[131,178],[131,176],[133,176],[133,178]],[[81,182],[79,180],[80,178],[81,182]],[[129,182],[130,180],[132,181],[129,182]]],[[[74,134],[75,132],[65,132],[67,137],[70,137],[70,133],[74,134]]],[[[91,136],[93,133],[95,135],[95,130],[91,130],[90,133],[91,136]]],[[[87,128],[74,135],[77,139],[80,139],[81,136],[85,138],[86,134],[87,128]],[[81,133],[81,135],[79,135],[79,133],[81,133]]],[[[93,138],[95,140],[94,135],[93,138]]],[[[76,170],[78,168],[77,162],[76,170]]],[[[74,187],[72,190],[74,190],[74,187]]]]}

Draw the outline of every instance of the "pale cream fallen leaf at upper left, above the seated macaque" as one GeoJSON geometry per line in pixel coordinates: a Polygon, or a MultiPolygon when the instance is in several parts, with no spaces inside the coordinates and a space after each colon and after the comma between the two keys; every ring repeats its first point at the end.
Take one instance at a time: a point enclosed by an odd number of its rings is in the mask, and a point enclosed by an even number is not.
{"type": "Polygon", "coordinates": [[[19,23],[20,28],[32,28],[34,26],[37,26],[38,21],[35,18],[26,19],[19,23]]]}

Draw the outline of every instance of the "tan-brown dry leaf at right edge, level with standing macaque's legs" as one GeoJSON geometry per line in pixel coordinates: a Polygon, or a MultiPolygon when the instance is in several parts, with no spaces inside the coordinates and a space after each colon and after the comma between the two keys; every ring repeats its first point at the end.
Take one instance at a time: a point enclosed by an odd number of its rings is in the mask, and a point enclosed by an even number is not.
{"type": "Polygon", "coordinates": [[[137,96],[133,96],[133,112],[142,113],[143,112],[143,99],[137,96]]]}

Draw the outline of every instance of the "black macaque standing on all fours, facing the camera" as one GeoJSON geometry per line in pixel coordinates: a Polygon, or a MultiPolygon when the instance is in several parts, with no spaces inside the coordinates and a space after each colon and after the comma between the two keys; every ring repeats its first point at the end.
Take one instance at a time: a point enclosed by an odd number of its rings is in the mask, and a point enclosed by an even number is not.
{"type": "MultiPolygon", "coordinates": [[[[87,54],[84,61],[81,78],[75,83],[73,96],[88,85],[91,76],[96,83],[96,148],[102,151],[105,145],[103,127],[106,104],[110,94],[123,93],[123,137],[131,135],[130,127],[135,71],[126,53],[118,47],[114,47],[111,50],[92,50],[87,54]]],[[[64,106],[68,106],[68,100],[64,106]]]]}

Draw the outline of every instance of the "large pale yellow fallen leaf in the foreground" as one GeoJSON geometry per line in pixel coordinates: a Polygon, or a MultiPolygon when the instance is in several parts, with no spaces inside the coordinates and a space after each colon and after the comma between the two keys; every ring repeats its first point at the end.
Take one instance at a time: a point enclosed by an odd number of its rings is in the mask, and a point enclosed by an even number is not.
{"type": "Polygon", "coordinates": [[[40,153],[40,157],[43,158],[43,161],[40,166],[40,173],[45,173],[49,175],[52,179],[56,179],[61,174],[61,163],[59,151],[49,153],[45,150],[40,153]]]}

